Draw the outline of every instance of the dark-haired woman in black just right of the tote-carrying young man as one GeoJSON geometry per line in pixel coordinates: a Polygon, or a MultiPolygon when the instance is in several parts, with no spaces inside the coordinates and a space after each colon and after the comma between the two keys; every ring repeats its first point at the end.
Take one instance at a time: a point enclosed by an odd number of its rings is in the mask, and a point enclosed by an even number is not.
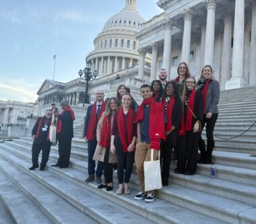
{"type": "Polygon", "coordinates": [[[162,142],[160,153],[160,161],[162,161],[162,186],[168,186],[172,149],[177,145],[178,130],[181,126],[182,118],[182,103],[179,98],[178,87],[174,81],[168,81],[166,84],[161,104],[167,118],[165,125],[166,141],[162,142]]]}

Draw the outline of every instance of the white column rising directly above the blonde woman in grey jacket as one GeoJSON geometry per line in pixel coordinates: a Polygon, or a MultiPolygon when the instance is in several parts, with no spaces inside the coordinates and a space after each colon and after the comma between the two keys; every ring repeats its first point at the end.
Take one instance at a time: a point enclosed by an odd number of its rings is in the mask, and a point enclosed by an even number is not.
{"type": "Polygon", "coordinates": [[[215,9],[219,0],[204,0],[207,9],[207,22],[205,32],[205,53],[204,65],[214,63],[214,30],[215,30],[215,9]]]}

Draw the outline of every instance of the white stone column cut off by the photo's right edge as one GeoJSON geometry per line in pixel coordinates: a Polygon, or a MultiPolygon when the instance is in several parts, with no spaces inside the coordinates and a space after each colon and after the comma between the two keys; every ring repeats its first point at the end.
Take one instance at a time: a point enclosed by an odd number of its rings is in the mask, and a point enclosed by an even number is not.
{"type": "Polygon", "coordinates": [[[256,85],[256,1],[251,2],[251,54],[249,85],[256,85]]]}

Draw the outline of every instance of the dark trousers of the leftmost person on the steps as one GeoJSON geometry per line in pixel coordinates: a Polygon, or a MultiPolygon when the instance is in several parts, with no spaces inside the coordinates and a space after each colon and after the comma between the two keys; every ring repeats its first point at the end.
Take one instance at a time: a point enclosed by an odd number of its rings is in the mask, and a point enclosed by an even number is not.
{"type": "Polygon", "coordinates": [[[41,160],[41,167],[45,167],[50,154],[51,144],[49,143],[37,143],[36,141],[33,142],[32,145],[32,163],[33,165],[38,165],[38,156],[40,151],[42,150],[42,160],[41,160]]]}

